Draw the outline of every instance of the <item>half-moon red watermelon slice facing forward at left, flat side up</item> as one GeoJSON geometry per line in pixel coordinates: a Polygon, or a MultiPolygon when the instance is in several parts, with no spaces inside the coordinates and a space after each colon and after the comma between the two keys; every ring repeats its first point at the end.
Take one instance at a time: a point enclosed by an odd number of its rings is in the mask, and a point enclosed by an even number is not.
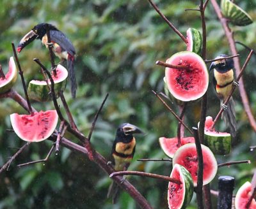
{"type": "Polygon", "coordinates": [[[24,141],[46,140],[54,132],[58,123],[56,110],[35,112],[33,115],[10,115],[15,133],[24,141]]]}

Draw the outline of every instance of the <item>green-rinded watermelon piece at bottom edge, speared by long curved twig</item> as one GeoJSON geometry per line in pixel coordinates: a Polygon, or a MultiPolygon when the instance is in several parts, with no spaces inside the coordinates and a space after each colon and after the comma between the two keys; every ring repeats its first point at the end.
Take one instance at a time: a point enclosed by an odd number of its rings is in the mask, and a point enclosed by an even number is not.
{"type": "Polygon", "coordinates": [[[182,184],[168,184],[168,206],[170,209],[186,208],[190,203],[193,196],[193,180],[189,171],[175,164],[172,169],[170,177],[179,179],[182,184]]]}

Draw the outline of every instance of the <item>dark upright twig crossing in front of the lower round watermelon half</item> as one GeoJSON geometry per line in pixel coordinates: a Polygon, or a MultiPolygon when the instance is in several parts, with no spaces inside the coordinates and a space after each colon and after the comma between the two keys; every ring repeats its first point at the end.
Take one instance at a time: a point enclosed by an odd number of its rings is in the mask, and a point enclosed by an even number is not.
{"type": "Polygon", "coordinates": [[[197,184],[196,184],[196,201],[198,208],[204,208],[203,204],[203,171],[204,171],[204,159],[202,154],[202,147],[198,136],[198,129],[193,127],[194,137],[195,137],[195,145],[196,145],[196,154],[197,154],[197,184]]]}

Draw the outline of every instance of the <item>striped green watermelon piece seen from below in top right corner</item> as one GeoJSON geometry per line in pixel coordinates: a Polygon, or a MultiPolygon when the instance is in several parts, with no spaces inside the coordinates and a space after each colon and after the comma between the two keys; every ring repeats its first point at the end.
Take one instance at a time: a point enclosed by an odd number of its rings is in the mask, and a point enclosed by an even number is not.
{"type": "Polygon", "coordinates": [[[253,23],[250,15],[230,0],[221,0],[221,12],[234,25],[244,26],[253,23]]]}

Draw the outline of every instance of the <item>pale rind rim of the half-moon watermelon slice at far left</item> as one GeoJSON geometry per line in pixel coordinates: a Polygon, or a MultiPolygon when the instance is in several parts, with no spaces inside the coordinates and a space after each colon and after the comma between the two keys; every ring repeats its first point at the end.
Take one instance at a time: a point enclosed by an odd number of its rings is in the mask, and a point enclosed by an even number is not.
{"type": "Polygon", "coordinates": [[[12,113],[10,115],[10,120],[11,120],[11,124],[13,127],[14,132],[17,134],[17,136],[19,136],[20,139],[24,140],[24,141],[28,141],[28,142],[40,142],[40,141],[44,141],[47,138],[49,138],[49,136],[51,136],[51,134],[54,132],[54,130],[56,129],[56,126],[58,124],[58,113],[56,110],[47,110],[47,112],[54,112],[55,113],[55,117],[54,120],[51,120],[51,127],[49,128],[49,130],[47,131],[47,134],[45,134],[45,136],[41,139],[33,139],[33,140],[29,140],[28,138],[26,138],[26,136],[22,136],[22,134],[20,133],[20,129],[22,129],[22,127],[19,127],[18,121],[17,121],[17,116],[19,116],[19,114],[17,113],[12,113]]]}

